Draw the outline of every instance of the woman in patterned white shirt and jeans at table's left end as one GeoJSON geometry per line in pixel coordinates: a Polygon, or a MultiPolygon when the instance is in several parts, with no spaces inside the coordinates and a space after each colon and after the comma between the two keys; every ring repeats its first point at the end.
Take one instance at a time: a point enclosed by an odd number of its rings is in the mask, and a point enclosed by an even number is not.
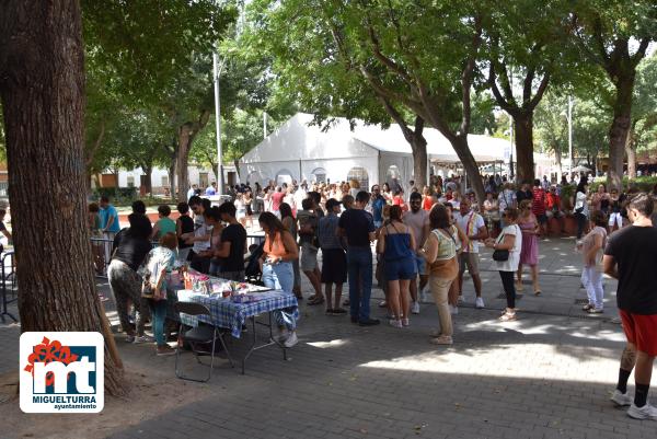
{"type": "Polygon", "coordinates": [[[143,265],[143,285],[141,297],[148,301],[157,343],[157,355],[174,355],[175,349],[164,338],[164,321],[166,320],[166,277],[175,263],[177,236],[165,233],[160,239],[160,246],[150,251],[143,265]]]}

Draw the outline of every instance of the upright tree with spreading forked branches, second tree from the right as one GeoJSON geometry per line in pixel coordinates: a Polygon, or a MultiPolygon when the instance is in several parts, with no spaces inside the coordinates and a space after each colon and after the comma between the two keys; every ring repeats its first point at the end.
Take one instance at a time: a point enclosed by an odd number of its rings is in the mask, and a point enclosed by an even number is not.
{"type": "Polygon", "coordinates": [[[534,1],[499,2],[484,21],[489,86],[514,118],[519,181],[534,178],[534,109],[548,85],[572,71],[565,62],[569,23],[564,3],[549,0],[537,8],[534,1]]]}

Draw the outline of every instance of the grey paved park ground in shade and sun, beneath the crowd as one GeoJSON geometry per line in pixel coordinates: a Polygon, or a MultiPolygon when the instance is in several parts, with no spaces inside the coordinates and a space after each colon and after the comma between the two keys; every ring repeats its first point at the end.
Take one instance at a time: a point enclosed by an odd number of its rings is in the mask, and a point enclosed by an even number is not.
{"type": "MultiPolygon", "coordinates": [[[[209,383],[188,384],[209,394],[110,437],[654,438],[656,423],[633,420],[609,401],[624,345],[621,326],[610,321],[615,282],[606,280],[606,313],[585,315],[575,304],[585,293],[573,247],[573,240],[541,242],[543,294],[525,294],[519,320],[508,323],[496,320],[505,301],[486,252],[487,308],[469,305],[466,279],[449,347],[428,343],[437,325],[431,303],[404,330],[360,327],[303,303],[299,344],[288,361],[279,350],[261,350],[245,376],[219,361],[209,383]]],[[[382,314],[377,301],[374,315],[382,314]]],[[[243,348],[245,342],[231,344],[243,348]]],[[[0,327],[0,347],[18,351],[15,326],[0,327]]],[[[153,373],[175,379],[173,358],[154,357],[151,346],[119,348],[127,363],[149,363],[153,373]]],[[[3,356],[0,372],[16,365],[15,355],[3,356]]]]}

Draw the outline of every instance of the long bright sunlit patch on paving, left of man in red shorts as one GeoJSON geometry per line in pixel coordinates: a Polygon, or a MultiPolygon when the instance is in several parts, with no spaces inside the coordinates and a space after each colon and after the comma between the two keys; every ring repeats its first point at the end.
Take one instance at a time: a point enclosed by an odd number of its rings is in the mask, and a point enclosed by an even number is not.
{"type": "Polygon", "coordinates": [[[369,361],[359,367],[613,384],[618,378],[619,362],[615,358],[608,358],[611,354],[609,349],[570,345],[510,344],[471,349],[454,345],[439,347],[431,353],[369,361]],[[504,365],[499,363],[500,355],[507,359],[504,365]]]}

